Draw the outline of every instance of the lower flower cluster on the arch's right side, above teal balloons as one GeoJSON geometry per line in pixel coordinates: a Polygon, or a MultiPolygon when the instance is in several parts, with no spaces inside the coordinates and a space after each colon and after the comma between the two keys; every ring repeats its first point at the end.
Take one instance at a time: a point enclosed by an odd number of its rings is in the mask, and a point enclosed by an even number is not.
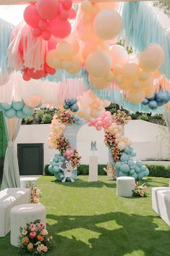
{"type": "Polygon", "coordinates": [[[115,140],[116,140],[115,134],[111,134],[111,133],[105,131],[104,143],[111,150],[112,157],[114,159],[114,162],[116,163],[120,159],[121,150],[117,146],[115,140]]]}

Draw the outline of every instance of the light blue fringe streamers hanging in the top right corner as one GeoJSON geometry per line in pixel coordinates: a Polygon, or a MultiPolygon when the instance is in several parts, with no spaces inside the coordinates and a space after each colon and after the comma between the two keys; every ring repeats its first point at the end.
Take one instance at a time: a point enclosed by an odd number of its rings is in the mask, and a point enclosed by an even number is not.
{"type": "Polygon", "coordinates": [[[122,38],[135,51],[143,51],[150,44],[160,45],[165,53],[161,73],[170,79],[170,33],[159,22],[153,10],[143,2],[127,2],[122,7],[122,38]]]}

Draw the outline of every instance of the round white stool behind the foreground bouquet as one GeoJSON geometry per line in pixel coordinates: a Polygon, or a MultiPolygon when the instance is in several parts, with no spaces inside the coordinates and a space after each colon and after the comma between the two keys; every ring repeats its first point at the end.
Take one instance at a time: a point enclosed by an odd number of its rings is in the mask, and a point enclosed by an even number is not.
{"type": "Polygon", "coordinates": [[[20,227],[35,220],[41,220],[46,226],[46,207],[41,204],[14,206],[11,210],[11,244],[19,247],[20,227]]]}

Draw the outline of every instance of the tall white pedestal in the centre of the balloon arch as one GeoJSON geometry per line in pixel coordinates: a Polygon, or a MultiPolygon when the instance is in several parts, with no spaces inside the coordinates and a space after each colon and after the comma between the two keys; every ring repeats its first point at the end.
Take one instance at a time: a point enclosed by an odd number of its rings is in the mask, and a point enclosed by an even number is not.
{"type": "Polygon", "coordinates": [[[88,181],[98,181],[98,156],[89,157],[89,177],[88,181]]]}

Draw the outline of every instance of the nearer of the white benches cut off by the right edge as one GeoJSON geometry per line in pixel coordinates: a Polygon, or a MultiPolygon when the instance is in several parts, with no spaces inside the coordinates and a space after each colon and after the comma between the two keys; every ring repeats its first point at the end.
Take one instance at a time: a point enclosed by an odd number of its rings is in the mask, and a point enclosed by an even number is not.
{"type": "Polygon", "coordinates": [[[158,191],[160,217],[170,226],[170,190],[158,191]]]}

